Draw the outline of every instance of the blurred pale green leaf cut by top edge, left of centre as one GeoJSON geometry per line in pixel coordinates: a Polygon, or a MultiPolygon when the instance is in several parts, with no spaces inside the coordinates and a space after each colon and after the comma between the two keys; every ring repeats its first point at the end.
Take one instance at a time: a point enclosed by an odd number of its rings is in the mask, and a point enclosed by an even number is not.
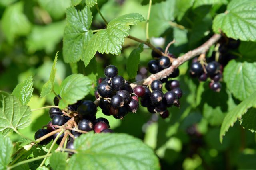
{"type": "Polygon", "coordinates": [[[55,20],[61,19],[66,12],[66,8],[71,6],[70,0],[38,0],[38,3],[55,20]]]}

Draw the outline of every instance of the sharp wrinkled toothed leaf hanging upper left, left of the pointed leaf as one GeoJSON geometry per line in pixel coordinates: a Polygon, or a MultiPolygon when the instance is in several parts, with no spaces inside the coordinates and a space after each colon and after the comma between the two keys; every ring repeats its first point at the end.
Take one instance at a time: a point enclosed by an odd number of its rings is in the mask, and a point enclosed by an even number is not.
{"type": "Polygon", "coordinates": [[[66,63],[75,63],[87,55],[85,49],[93,35],[90,30],[92,13],[90,8],[85,6],[80,11],[70,7],[66,14],[67,25],[63,37],[63,57],[66,63]]]}

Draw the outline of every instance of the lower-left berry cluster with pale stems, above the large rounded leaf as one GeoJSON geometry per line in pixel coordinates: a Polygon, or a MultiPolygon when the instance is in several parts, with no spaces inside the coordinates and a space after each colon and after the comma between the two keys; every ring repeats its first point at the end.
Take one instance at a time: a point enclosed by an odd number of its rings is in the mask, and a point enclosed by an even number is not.
{"type": "MultiPolygon", "coordinates": [[[[56,96],[54,98],[54,104],[58,106],[60,96],[56,96]]],[[[97,113],[97,106],[94,102],[90,100],[80,100],[76,104],[72,104],[68,106],[68,113],[63,114],[62,110],[58,108],[52,107],[49,110],[49,116],[52,119],[47,125],[46,129],[39,129],[35,133],[35,140],[58,129],[57,126],[62,126],[67,123],[71,118],[67,115],[74,116],[74,121],[76,122],[77,126],[73,127],[74,130],[71,131],[70,136],[68,137],[68,143],[66,145],[67,149],[74,149],[74,139],[81,135],[78,133],[76,129],[80,131],[92,131],[94,130],[95,133],[111,133],[113,132],[109,126],[109,122],[107,119],[100,117],[96,118],[97,113]],[[71,113],[71,114],[68,114],[71,113]],[[75,113],[75,114],[72,114],[75,113]]],[[[71,117],[72,117],[71,116],[71,117]]],[[[54,135],[42,140],[39,144],[47,145],[53,139],[56,139],[59,133],[55,133],[54,135]]],[[[64,137],[64,133],[62,133],[57,141],[56,144],[60,144],[64,137]]]]}

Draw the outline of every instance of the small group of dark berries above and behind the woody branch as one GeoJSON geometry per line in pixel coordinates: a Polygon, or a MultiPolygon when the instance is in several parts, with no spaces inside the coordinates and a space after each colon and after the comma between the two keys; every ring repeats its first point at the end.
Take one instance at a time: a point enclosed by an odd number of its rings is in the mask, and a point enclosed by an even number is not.
{"type": "MultiPolygon", "coordinates": [[[[158,47],[160,51],[163,52],[163,49],[158,47]]],[[[154,60],[150,60],[148,62],[148,71],[151,74],[156,74],[160,71],[162,71],[164,68],[168,68],[172,63],[170,61],[170,58],[175,58],[173,54],[168,54],[168,57],[161,56],[160,54],[156,53],[156,51],[152,50],[151,56],[154,58],[154,60]]],[[[168,78],[175,78],[180,75],[180,70],[176,68],[168,78]]]]}

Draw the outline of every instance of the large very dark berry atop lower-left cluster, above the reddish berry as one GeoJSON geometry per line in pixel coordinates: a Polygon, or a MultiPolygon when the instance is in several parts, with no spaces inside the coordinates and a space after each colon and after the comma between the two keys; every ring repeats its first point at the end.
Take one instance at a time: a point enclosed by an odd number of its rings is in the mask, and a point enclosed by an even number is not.
{"type": "Polygon", "coordinates": [[[80,119],[94,118],[97,112],[97,106],[90,100],[84,100],[77,109],[80,119]]]}

